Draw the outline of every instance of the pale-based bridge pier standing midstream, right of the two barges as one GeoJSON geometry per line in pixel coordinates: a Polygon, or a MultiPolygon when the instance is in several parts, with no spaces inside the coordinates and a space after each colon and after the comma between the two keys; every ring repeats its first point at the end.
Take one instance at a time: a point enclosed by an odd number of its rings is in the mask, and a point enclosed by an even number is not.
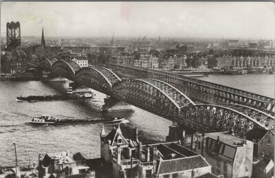
{"type": "Polygon", "coordinates": [[[130,104],[107,96],[107,98],[104,98],[102,111],[133,111],[133,107],[130,104]]]}

